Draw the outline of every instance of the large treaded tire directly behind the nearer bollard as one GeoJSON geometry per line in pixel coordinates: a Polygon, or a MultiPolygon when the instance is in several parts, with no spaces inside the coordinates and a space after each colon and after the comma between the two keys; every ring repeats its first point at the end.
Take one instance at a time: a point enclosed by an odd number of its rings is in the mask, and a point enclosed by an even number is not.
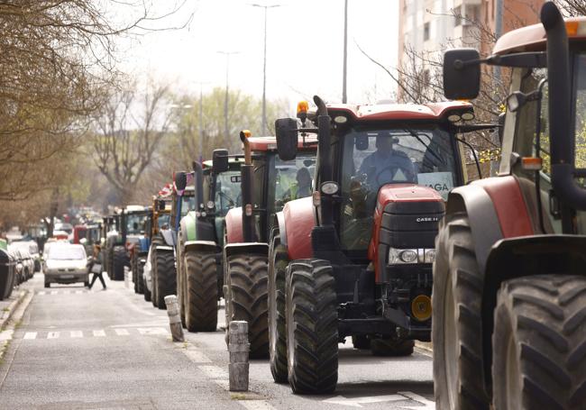
{"type": "Polygon", "coordinates": [[[248,322],[250,358],[266,359],[269,357],[267,258],[263,255],[233,255],[227,263],[226,329],[233,320],[248,322]]]}

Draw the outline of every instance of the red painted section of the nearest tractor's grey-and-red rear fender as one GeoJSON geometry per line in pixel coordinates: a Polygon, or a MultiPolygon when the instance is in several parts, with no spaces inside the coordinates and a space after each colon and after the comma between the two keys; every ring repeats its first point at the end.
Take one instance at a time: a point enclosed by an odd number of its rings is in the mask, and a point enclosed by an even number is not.
{"type": "Polygon", "coordinates": [[[475,181],[489,194],[497,213],[503,238],[534,235],[528,208],[515,177],[486,178],[475,181]]]}

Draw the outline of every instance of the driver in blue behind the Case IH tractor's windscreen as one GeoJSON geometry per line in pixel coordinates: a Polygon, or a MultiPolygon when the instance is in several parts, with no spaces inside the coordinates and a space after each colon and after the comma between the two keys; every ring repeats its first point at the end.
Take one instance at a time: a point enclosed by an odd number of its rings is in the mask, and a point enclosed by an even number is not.
{"type": "Polygon", "coordinates": [[[393,149],[396,143],[397,137],[381,131],[376,137],[377,150],[362,160],[358,173],[367,176],[372,188],[388,182],[415,182],[415,167],[405,152],[393,149]]]}

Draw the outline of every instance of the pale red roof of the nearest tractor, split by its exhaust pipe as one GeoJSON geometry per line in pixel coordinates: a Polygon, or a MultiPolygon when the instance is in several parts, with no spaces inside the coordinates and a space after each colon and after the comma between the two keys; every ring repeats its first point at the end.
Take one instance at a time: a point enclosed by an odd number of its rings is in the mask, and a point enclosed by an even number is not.
{"type": "MultiPolygon", "coordinates": [[[[568,38],[572,41],[586,40],[586,17],[565,19],[568,38]]],[[[492,50],[493,55],[513,52],[545,50],[545,29],[542,23],[528,25],[503,34],[492,50]]]]}

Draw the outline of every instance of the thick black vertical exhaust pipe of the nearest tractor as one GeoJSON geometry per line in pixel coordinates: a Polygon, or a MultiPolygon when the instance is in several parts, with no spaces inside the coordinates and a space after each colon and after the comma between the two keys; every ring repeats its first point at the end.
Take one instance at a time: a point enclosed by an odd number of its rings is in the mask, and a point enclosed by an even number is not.
{"type": "Polygon", "coordinates": [[[541,8],[541,22],[547,36],[547,81],[552,150],[552,185],[562,202],[563,231],[572,231],[572,210],[586,209],[586,190],[574,179],[575,138],[572,135],[570,56],[568,34],[562,14],[554,2],[541,8]],[[565,210],[563,208],[566,208],[565,210]]]}

